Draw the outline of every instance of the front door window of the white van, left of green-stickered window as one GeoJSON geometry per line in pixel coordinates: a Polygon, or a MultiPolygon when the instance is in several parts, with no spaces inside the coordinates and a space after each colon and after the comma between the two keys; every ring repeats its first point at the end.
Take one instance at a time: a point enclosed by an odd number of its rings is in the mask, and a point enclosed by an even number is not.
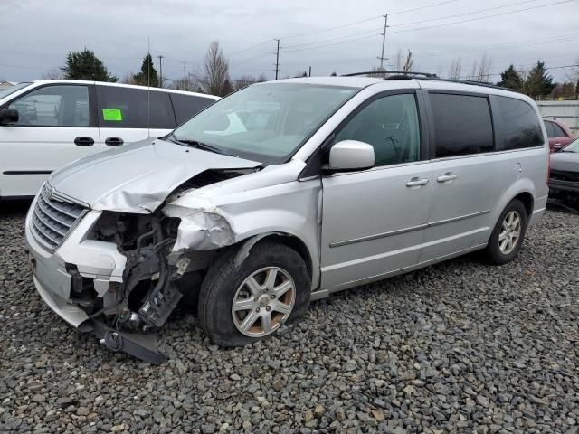
{"type": "Polygon", "coordinates": [[[89,127],[89,89],[86,86],[46,86],[14,100],[16,126],[89,127]]]}

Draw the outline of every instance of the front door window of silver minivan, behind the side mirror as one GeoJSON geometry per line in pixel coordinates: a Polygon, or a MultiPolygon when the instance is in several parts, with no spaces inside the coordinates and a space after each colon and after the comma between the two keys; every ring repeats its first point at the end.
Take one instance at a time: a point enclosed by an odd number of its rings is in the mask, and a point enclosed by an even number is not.
{"type": "Polygon", "coordinates": [[[414,94],[376,99],[336,135],[335,142],[358,140],[374,146],[375,165],[420,159],[420,124],[414,94]]]}

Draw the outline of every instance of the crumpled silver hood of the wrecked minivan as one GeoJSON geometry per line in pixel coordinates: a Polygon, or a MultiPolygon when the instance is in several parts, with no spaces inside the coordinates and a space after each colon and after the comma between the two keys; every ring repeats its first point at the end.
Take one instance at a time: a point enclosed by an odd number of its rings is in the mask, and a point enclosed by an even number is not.
{"type": "Polygon", "coordinates": [[[149,138],[65,165],[48,182],[95,210],[148,213],[204,170],[257,165],[261,163],[149,138]]]}

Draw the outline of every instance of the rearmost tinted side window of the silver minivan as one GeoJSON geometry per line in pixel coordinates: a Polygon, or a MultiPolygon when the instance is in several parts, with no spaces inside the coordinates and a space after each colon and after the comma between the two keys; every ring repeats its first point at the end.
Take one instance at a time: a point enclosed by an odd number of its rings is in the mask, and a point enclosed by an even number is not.
{"type": "Polygon", "coordinates": [[[498,150],[543,145],[541,123],[530,104],[520,99],[493,97],[493,109],[498,150]]]}

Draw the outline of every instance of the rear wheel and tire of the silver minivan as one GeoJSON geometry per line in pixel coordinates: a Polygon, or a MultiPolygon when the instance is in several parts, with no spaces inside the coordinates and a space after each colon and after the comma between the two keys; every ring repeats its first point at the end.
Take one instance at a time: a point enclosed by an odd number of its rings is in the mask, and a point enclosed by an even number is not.
{"type": "MultiPolygon", "coordinates": [[[[516,220],[513,222],[516,222],[516,220]]],[[[523,245],[523,240],[525,239],[527,223],[528,217],[525,205],[518,199],[514,199],[508,203],[507,207],[503,212],[501,212],[498,222],[495,225],[495,229],[492,231],[489,238],[486,256],[492,264],[503,265],[517,257],[517,254],[523,245]],[[513,228],[512,224],[509,224],[509,222],[506,221],[510,216],[514,216],[515,218],[518,217],[520,219],[520,228],[518,232],[516,228],[513,228]],[[510,226],[511,229],[506,229],[503,226],[503,223],[505,223],[507,227],[510,226]],[[504,233],[507,233],[506,237],[503,237],[504,233]],[[517,240],[515,241],[510,238],[508,235],[509,233],[518,233],[517,240]],[[508,239],[512,241],[510,245],[508,239]]]]}

